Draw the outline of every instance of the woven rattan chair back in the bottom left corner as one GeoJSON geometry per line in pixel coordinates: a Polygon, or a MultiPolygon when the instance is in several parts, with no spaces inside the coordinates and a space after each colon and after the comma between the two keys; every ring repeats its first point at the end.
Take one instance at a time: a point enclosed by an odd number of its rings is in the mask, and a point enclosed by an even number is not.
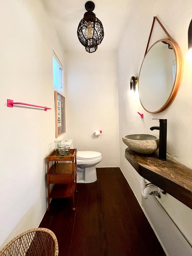
{"type": "Polygon", "coordinates": [[[55,234],[46,228],[33,228],[13,238],[0,251],[0,256],[57,256],[55,234]]]}

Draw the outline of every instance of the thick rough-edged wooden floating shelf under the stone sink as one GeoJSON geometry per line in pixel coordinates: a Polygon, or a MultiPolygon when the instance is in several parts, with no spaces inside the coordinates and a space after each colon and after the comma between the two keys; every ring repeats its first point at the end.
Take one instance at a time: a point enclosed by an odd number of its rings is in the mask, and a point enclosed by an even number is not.
{"type": "Polygon", "coordinates": [[[172,159],[159,160],[155,154],[141,155],[129,148],[125,158],[135,170],[154,185],[192,209],[192,170],[172,159]]]}

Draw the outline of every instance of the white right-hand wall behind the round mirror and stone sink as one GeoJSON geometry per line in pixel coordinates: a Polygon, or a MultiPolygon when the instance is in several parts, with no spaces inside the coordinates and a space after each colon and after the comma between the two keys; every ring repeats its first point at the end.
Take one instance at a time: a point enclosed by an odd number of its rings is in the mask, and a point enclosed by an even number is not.
{"type": "MultiPolygon", "coordinates": [[[[192,65],[184,58],[183,78],[176,99],[167,110],[157,114],[147,113],[143,110],[138,97],[131,97],[129,94],[130,78],[139,75],[153,16],[160,19],[168,33],[179,44],[183,56],[185,56],[187,52],[187,31],[192,18],[192,5],[189,0],[179,0],[177,3],[173,0],[168,2],[166,0],[139,1],[132,13],[137,15],[128,17],[128,24],[125,28],[118,55],[120,167],[137,199],[142,204],[140,176],[125,159],[126,145],[122,142],[122,136],[132,133],[158,135],[158,131],[150,131],[149,129],[153,125],[159,125],[158,120],[152,120],[152,118],[167,118],[167,152],[175,160],[192,169],[192,65]],[[140,118],[137,111],[144,114],[143,119],[140,118]]],[[[162,29],[158,28],[157,21],[155,21],[155,24],[152,41],[167,38],[162,29]]],[[[192,210],[170,195],[164,196],[159,201],[192,245],[192,210]]],[[[148,203],[150,203],[150,200],[148,203]]],[[[156,218],[156,221],[163,225],[162,219],[156,218]]],[[[156,231],[157,233],[160,232],[160,230],[156,231]]],[[[174,237],[170,237],[167,240],[171,244],[174,239],[174,237]]]]}

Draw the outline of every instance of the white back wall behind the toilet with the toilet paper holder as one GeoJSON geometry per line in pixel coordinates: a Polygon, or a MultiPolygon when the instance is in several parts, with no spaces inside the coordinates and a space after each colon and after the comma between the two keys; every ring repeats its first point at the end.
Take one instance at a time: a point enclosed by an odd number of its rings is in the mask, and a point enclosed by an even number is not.
{"type": "Polygon", "coordinates": [[[66,102],[67,135],[74,147],[101,152],[97,167],[119,166],[116,52],[67,53],[66,102]]]}

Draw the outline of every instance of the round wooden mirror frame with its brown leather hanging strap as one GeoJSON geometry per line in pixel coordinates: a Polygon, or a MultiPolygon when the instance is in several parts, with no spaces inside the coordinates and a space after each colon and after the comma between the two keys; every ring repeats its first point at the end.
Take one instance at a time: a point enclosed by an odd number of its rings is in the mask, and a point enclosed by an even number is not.
{"type": "MultiPolygon", "coordinates": [[[[177,92],[179,90],[179,87],[180,87],[180,84],[181,84],[181,78],[182,78],[182,72],[183,72],[183,58],[182,58],[182,52],[181,52],[181,49],[179,47],[179,45],[176,43],[176,41],[168,34],[167,30],[164,28],[164,26],[161,24],[161,22],[159,21],[159,19],[157,17],[153,17],[153,24],[152,24],[152,28],[151,28],[151,32],[150,32],[150,35],[149,35],[149,40],[148,40],[148,43],[147,43],[147,47],[146,47],[146,52],[145,52],[145,56],[144,56],[144,59],[143,59],[143,62],[145,60],[145,57],[147,55],[147,53],[150,51],[150,49],[155,45],[157,44],[158,42],[161,42],[161,41],[164,41],[164,42],[167,42],[168,44],[170,44],[172,47],[173,47],[173,50],[174,50],[174,53],[175,53],[175,56],[176,56],[176,77],[175,77],[175,81],[174,81],[174,84],[173,84],[173,88],[172,88],[172,91],[170,93],[170,96],[169,98],[167,99],[167,101],[165,102],[165,104],[158,110],[152,112],[152,111],[149,111],[147,110],[143,104],[141,103],[142,107],[149,113],[159,113],[159,112],[162,112],[164,110],[166,110],[170,104],[173,102],[173,100],[175,99],[176,95],[177,95],[177,92]],[[150,39],[151,39],[151,35],[152,35],[152,31],[153,31],[153,27],[154,27],[154,23],[155,23],[155,20],[158,21],[158,23],[160,24],[161,28],[164,30],[164,32],[166,33],[166,35],[169,37],[168,39],[160,39],[158,41],[156,41],[149,49],[149,42],[150,42],[150,39]]],[[[141,64],[141,68],[142,68],[142,65],[143,65],[143,62],[141,64]]],[[[140,72],[141,72],[141,68],[140,68],[140,72]]],[[[140,77],[140,72],[139,72],[139,77],[140,77]]],[[[140,100],[141,102],[141,100],[140,100]]]]}

